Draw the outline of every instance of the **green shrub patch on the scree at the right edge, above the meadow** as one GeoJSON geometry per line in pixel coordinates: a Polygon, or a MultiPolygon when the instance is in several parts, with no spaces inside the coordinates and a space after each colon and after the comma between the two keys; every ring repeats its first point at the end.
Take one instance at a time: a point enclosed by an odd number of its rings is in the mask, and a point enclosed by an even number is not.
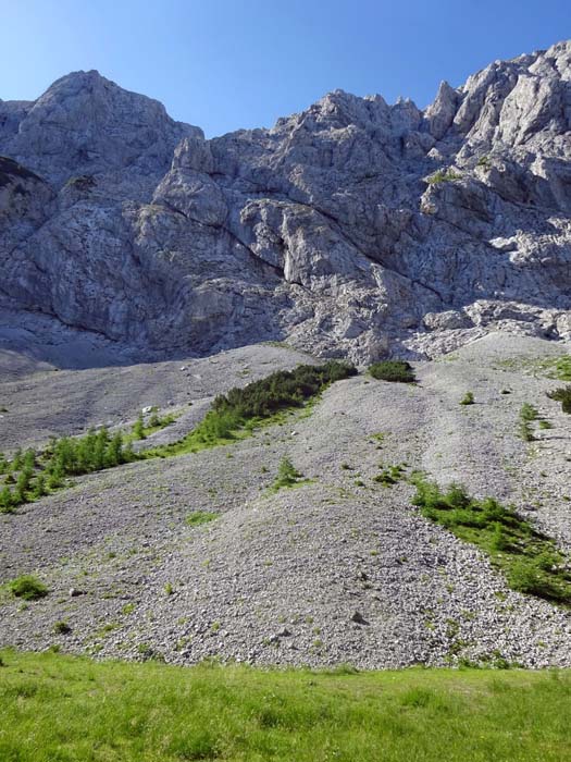
{"type": "Polygon", "coordinates": [[[421,514],[487,553],[512,590],[571,605],[569,560],[551,539],[493,497],[474,500],[459,484],[442,491],[420,475],[412,482],[421,514]]]}

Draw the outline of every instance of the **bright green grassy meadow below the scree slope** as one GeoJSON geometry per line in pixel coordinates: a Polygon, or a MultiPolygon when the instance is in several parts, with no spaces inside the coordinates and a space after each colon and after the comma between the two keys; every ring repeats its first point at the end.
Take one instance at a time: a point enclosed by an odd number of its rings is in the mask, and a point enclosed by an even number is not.
{"type": "Polygon", "coordinates": [[[568,672],[265,672],[1,655],[2,762],[571,759],[568,672]]]}

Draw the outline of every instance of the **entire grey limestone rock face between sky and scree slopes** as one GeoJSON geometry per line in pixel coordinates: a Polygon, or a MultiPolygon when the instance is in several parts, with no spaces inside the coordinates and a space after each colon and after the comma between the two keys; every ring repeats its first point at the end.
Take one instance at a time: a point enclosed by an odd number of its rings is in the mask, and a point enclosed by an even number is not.
{"type": "Polygon", "coordinates": [[[211,140],[78,72],[0,101],[0,302],[116,342],[368,361],[571,335],[571,42],[425,111],[336,90],[211,140]]]}

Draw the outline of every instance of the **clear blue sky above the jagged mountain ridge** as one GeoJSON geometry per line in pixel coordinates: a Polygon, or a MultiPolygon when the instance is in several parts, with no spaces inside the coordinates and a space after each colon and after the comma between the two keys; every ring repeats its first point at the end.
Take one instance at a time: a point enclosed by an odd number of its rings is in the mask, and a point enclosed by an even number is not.
{"type": "Polygon", "coordinates": [[[496,59],[571,38],[570,0],[0,0],[0,98],[98,69],[207,135],[328,90],[420,107],[496,59]]]}

